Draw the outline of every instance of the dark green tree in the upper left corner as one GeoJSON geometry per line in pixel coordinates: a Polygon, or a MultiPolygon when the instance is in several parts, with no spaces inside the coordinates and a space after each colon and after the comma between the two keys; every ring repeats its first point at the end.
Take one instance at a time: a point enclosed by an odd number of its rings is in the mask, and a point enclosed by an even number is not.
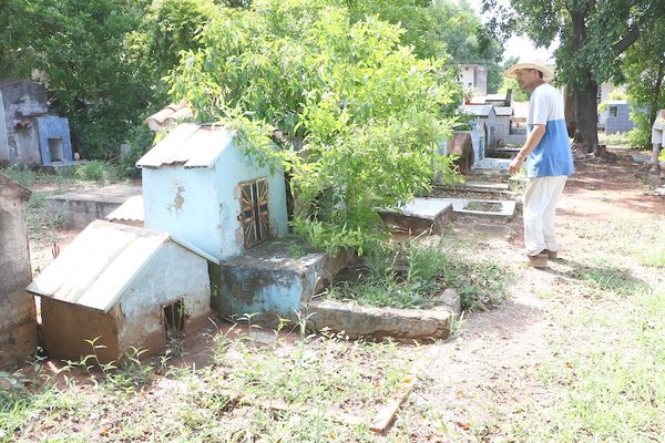
{"type": "Polygon", "coordinates": [[[74,143],[89,157],[111,156],[139,122],[145,100],[124,35],[143,3],[130,0],[7,0],[0,76],[40,73],[51,110],[69,117],[74,143]]]}

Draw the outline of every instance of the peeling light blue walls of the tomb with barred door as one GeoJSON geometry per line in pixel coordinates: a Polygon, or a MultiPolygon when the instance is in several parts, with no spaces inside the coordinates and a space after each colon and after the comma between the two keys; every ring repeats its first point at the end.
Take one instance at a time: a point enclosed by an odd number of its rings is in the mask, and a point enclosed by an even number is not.
{"type": "Polygon", "coordinates": [[[146,228],[172,233],[225,260],[245,253],[238,184],[267,178],[273,236],[287,233],[288,219],[282,171],[270,173],[268,166],[258,166],[231,136],[218,150],[211,167],[143,167],[143,199],[146,228]]]}

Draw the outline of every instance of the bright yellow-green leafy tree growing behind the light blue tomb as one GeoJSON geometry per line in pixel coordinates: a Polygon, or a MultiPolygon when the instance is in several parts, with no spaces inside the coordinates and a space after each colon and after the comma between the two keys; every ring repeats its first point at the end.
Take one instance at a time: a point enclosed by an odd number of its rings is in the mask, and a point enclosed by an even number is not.
{"type": "Polygon", "coordinates": [[[235,126],[255,158],[280,162],[295,195],[294,228],[314,244],[359,253],[379,233],[377,207],[427,188],[459,86],[444,54],[419,59],[403,29],[318,0],[222,9],[171,78],[203,121],[235,126]],[[275,152],[275,128],[283,150],[275,152]]]}

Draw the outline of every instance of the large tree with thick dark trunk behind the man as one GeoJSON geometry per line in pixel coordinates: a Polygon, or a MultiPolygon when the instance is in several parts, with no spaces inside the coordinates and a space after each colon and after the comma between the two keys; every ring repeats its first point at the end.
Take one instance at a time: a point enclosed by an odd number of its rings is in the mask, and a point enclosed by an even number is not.
{"type": "MultiPolygon", "coordinates": [[[[511,0],[514,12],[501,13],[497,0],[484,0],[495,12],[493,24],[503,31],[525,32],[539,45],[559,37],[556,81],[569,89],[566,123],[584,143],[597,145],[597,85],[621,83],[620,55],[649,23],[663,17],[661,0],[511,0]]],[[[661,37],[662,38],[662,37],[661,37]]]]}

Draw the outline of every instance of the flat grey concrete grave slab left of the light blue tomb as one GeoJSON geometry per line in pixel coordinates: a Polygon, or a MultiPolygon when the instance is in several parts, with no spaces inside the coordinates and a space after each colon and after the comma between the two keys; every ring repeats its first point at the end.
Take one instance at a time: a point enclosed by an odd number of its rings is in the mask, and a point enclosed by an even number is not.
{"type": "Polygon", "coordinates": [[[141,186],[106,186],[47,197],[45,209],[61,215],[71,229],[83,229],[95,219],[104,219],[130,197],[141,195],[141,186]]]}

